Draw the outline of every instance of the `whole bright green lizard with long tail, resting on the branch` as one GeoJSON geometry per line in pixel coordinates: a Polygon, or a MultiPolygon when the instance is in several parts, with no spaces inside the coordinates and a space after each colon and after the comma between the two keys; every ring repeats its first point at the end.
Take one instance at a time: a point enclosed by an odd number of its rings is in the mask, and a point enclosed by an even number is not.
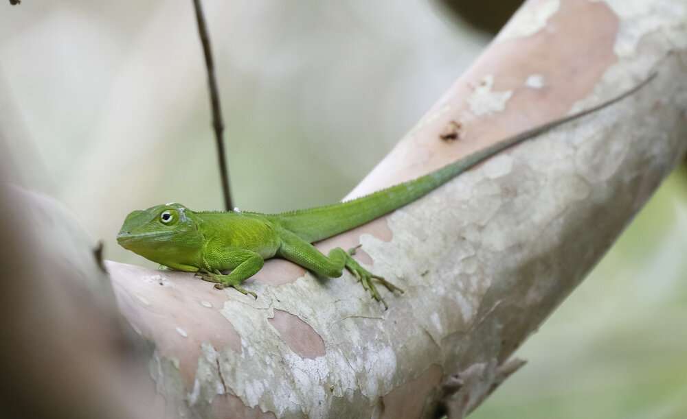
{"type": "Polygon", "coordinates": [[[508,147],[635,93],[654,76],[652,74],[629,91],[598,106],[539,125],[425,176],[354,200],[280,214],[195,212],[176,203],[157,205],[130,213],[117,235],[117,242],[124,248],[171,269],[196,272],[204,280],[216,283],[216,288],[234,287],[255,298],[256,294],[243,289],[241,284],[262,268],[265,259],[275,256],[288,259],[328,278],[341,276],[346,268],[370,292],[372,298],[386,308],[387,304],[374,282],[379,281],[391,292],[403,291],[361,267],[352,258],[355,248],[348,252],[335,248],[325,255],[312,243],[361,226],[418,200],[508,147]],[[222,273],[228,270],[231,270],[229,274],[222,273]]]}

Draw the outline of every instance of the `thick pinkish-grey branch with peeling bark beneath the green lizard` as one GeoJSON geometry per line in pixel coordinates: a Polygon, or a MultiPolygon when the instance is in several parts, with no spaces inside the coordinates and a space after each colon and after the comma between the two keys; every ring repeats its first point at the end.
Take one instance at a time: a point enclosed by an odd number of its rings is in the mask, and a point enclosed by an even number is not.
{"type": "Polygon", "coordinates": [[[284,262],[247,281],[258,300],[190,274],[106,263],[122,314],[155,348],[148,367],[159,410],[431,418],[443,403],[460,418],[477,407],[684,156],[685,22],[677,0],[530,2],[353,194],[592,106],[651,69],[659,75],[612,108],[320,244],[359,241],[363,263],[407,290],[385,296],[388,311],[348,273],[324,280],[284,262]],[[595,24],[578,34],[581,19],[595,24]],[[566,48],[582,52],[547,56],[566,48]],[[522,56],[530,67],[518,64],[522,56]],[[451,121],[464,132],[446,143],[440,134],[451,121]]]}

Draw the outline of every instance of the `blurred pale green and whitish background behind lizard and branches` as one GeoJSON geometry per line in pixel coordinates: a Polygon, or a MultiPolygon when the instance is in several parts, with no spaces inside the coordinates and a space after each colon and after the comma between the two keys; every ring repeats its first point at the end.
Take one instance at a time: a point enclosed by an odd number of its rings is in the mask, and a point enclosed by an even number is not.
{"type": "MultiPolygon", "coordinates": [[[[346,195],[518,2],[206,0],[236,205],[346,195]]],[[[191,1],[0,3],[0,133],[108,259],[152,266],[114,240],[135,208],[221,209],[191,1]]],[[[471,417],[687,417],[685,249],[682,168],[471,417]]]]}

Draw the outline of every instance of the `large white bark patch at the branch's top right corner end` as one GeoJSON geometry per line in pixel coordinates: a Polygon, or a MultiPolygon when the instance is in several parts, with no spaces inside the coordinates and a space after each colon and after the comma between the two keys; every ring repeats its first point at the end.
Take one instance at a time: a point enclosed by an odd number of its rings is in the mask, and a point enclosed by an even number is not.
{"type": "Polygon", "coordinates": [[[672,0],[591,0],[609,5],[620,18],[616,37],[616,54],[634,56],[640,40],[651,32],[660,32],[675,48],[687,47],[687,3],[672,0]],[[666,24],[666,23],[673,23],[666,24]]]}

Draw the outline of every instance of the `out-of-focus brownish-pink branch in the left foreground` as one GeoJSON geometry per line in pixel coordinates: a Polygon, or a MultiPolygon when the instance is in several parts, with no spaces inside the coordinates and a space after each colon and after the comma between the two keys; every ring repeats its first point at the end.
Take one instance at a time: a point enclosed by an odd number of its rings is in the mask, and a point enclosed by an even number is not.
{"type": "Polygon", "coordinates": [[[94,243],[63,206],[5,183],[4,141],[0,133],[0,417],[162,418],[150,403],[149,349],[122,322],[94,243]]]}

